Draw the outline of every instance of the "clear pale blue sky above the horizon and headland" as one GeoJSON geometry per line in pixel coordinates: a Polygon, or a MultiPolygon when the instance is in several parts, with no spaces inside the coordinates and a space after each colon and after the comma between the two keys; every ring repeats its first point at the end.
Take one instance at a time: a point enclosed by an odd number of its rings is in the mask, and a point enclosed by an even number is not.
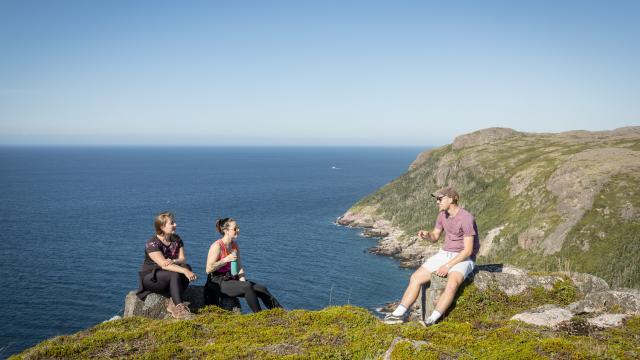
{"type": "Polygon", "coordinates": [[[448,3],[1,0],[0,144],[640,125],[640,1],[448,3]]]}

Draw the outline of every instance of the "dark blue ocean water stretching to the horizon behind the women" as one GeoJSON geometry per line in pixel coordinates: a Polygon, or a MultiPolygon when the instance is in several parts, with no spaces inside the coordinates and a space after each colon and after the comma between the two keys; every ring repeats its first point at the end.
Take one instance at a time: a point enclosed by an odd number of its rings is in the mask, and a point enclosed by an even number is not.
{"type": "Polygon", "coordinates": [[[0,147],[0,358],[121,314],[163,210],[197,285],[216,218],[233,217],[248,278],[285,308],[397,299],[409,272],[334,221],[422,150],[0,147]]]}

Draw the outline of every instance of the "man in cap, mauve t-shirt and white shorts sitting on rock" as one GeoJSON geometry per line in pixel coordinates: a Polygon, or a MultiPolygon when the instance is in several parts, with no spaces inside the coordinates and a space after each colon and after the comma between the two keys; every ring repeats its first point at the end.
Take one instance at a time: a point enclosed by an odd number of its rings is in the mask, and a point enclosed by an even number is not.
{"type": "Polygon", "coordinates": [[[385,316],[383,321],[386,324],[405,321],[407,309],[418,298],[420,287],[431,280],[433,272],[437,276],[447,277],[447,286],[440,295],[435,310],[422,321],[425,326],[435,324],[453,302],[456,291],[464,279],[473,271],[474,261],[480,249],[478,227],[473,215],[458,205],[460,195],[452,187],[442,188],[431,196],[436,198],[436,204],[440,210],[436,225],[433,231],[420,230],[418,236],[421,239],[436,242],[444,229],[446,233],[444,245],[442,250],[427,259],[411,275],[400,305],[392,313],[385,316]]]}

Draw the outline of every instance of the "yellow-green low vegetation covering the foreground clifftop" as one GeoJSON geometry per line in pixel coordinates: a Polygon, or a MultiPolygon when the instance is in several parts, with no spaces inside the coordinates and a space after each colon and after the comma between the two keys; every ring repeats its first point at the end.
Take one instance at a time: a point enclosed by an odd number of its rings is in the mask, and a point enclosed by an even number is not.
{"type": "MultiPolygon", "coordinates": [[[[321,311],[269,310],[237,315],[217,307],[189,321],[127,318],[59,336],[15,358],[381,358],[395,338],[394,359],[442,358],[638,358],[640,317],[618,329],[548,329],[509,321],[525,309],[546,303],[566,305],[578,298],[569,281],[554,289],[531,289],[518,296],[473,284],[461,291],[445,320],[430,328],[416,322],[384,325],[364,309],[330,307],[321,311]]],[[[576,319],[579,324],[581,319],[576,319]]],[[[574,327],[568,326],[567,329],[574,327]]]]}

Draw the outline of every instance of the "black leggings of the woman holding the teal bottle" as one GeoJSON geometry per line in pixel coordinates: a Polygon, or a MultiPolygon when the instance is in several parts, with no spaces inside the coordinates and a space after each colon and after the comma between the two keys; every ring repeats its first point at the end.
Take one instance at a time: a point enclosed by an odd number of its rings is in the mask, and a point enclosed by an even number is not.
{"type": "MultiPolygon", "coordinates": [[[[239,280],[222,280],[219,276],[209,276],[207,279],[207,288],[215,289],[219,287],[220,294],[226,297],[244,297],[251,311],[258,312],[262,310],[258,298],[262,300],[264,306],[268,309],[282,307],[278,300],[271,295],[269,290],[263,285],[254,283],[253,281],[239,280]]],[[[215,289],[218,290],[218,289],[215,289]]],[[[215,290],[213,290],[215,292],[215,290]]]]}

